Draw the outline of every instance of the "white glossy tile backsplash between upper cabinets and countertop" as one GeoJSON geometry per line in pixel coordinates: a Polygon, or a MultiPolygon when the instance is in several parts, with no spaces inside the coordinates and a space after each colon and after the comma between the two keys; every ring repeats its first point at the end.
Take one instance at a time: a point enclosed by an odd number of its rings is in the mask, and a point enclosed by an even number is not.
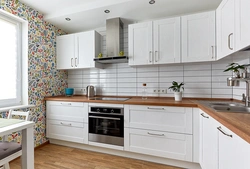
{"type": "MultiPolygon", "coordinates": [[[[128,53],[128,31],[124,33],[124,51],[128,53]]],[[[103,35],[103,54],[106,54],[105,30],[103,35]]],[[[250,52],[244,51],[216,62],[185,63],[130,67],[127,63],[105,64],[104,69],[83,69],[68,71],[68,86],[75,88],[76,94],[85,94],[87,85],[96,87],[97,95],[141,96],[142,84],[147,83],[149,96],[173,97],[172,92],[154,93],[166,90],[172,81],[184,82],[184,97],[196,98],[236,98],[245,93],[245,83],[240,87],[226,84],[231,72],[223,72],[229,63],[250,63],[250,52]]]]}

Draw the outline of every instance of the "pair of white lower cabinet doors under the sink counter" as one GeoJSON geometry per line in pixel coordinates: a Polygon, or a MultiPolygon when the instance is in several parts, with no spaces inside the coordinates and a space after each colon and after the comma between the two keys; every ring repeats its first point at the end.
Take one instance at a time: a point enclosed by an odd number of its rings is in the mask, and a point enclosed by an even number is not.
{"type": "Polygon", "coordinates": [[[200,111],[202,169],[249,169],[250,144],[200,111]]]}

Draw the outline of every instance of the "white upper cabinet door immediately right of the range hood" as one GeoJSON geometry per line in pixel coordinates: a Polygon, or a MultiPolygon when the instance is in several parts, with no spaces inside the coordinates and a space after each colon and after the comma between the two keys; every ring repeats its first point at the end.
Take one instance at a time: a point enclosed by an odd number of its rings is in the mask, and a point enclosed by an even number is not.
{"type": "Polygon", "coordinates": [[[129,65],[153,64],[152,22],[129,25],[129,65]]]}

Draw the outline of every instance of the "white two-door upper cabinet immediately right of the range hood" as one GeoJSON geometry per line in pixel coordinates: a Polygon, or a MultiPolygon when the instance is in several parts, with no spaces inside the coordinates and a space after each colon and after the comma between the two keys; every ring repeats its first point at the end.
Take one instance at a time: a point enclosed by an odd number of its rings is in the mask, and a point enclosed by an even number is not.
{"type": "Polygon", "coordinates": [[[180,17],[129,25],[129,65],[180,63],[180,17]]]}

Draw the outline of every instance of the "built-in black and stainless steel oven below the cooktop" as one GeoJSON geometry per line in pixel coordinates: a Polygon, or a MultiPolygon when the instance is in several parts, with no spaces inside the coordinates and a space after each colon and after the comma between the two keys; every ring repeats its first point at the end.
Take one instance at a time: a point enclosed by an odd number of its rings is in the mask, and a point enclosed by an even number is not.
{"type": "Polygon", "coordinates": [[[89,141],[123,146],[123,108],[90,106],[89,141]]]}

